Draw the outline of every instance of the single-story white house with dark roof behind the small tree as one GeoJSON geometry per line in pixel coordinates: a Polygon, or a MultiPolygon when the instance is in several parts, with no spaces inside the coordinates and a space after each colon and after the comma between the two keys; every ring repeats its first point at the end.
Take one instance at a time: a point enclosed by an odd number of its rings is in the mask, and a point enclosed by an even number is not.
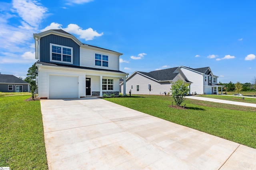
{"type": "MultiPolygon", "coordinates": [[[[126,78],[126,93],[164,95],[170,92],[172,83],[182,80],[190,84],[179,67],[156,70],[151,72],[135,71],[126,78]]],[[[121,83],[122,93],[124,84],[121,83]]]]}

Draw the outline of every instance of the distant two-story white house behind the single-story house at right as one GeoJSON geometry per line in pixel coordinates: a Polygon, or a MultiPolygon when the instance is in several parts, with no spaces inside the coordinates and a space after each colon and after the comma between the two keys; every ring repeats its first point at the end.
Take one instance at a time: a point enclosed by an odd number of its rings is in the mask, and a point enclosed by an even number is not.
{"type": "Polygon", "coordinates": [[[197,94],[218,94],[218,87],[222,87],[218,82],[218,76],[212,73],[210,67],[203,68],[189,68],[185,66],[180,66],[180,69],[193,84],[190,86],[192,93],[197,94]]]}

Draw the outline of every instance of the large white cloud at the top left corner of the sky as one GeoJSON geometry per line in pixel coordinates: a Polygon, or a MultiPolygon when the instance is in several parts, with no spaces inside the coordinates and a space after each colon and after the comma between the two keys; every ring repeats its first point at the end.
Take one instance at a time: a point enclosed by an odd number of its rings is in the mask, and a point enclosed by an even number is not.
{"type": "Polygon", "coordinates": [[[36,0],[13,0],[12,5],[22,20],[33,27],[38,27],[44,17],[44,13],[48,11],[36,0]]]}

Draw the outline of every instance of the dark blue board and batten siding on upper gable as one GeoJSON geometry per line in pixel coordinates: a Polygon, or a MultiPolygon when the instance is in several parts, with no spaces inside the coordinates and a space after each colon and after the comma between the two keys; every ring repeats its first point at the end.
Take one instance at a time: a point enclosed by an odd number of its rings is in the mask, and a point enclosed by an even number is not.
{"type": "Polygon", "coordinates": [[[46,63],[54,63],[50,62],[50,43],[56,45],[63,45],[66,47],[72,47],[73,64],[70,65],[80,66],[80,46],[70,38],[61,37],[53,34],[47,35],[40,39],[40,61],[46,63]]]}

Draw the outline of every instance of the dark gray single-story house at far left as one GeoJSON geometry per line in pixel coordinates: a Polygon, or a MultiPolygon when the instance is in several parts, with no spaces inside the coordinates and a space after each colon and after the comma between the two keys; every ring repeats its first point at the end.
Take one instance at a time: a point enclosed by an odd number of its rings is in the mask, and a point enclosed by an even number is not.
{"type": "Polygon", "coordinates": [[[30,84],[14,75],[0,73],[0,92],[30,92],[30,84]]]}

